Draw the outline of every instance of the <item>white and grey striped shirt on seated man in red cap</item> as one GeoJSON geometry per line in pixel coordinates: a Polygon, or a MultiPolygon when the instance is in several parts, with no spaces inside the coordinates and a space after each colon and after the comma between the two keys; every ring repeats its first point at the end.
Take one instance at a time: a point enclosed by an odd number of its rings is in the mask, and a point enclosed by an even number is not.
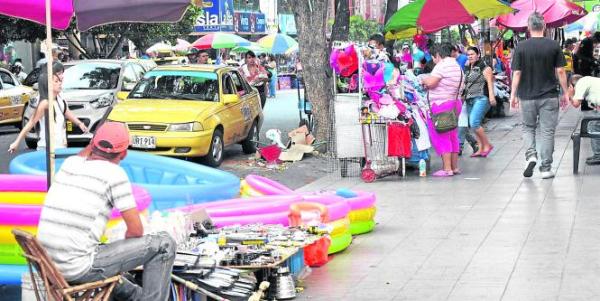
{"type": "Polygon", "coordinates": [[[113,207],[125,211],[135,206],[120,166],[69,157],[46,195],[38,240],[65,279],[77,279],[90,269],[113,207]]]}

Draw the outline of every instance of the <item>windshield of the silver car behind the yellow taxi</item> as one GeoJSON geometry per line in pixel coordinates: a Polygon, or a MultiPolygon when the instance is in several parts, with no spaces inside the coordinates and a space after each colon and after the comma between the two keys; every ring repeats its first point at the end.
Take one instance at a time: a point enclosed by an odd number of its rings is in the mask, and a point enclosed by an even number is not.
{"type": "Polygon", "coordinates": [[[121,65],[103,62],[83,62],[65,70],[65,90],[112,90],[119,84],[121,65]]]}

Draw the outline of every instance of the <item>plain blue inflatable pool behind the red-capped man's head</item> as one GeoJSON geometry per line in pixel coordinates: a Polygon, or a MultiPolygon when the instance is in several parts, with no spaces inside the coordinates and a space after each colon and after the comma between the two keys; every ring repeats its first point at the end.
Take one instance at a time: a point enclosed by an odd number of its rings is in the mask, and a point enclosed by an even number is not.
{"type": "MultiPolygon", "coordinates": [[[[57,150],[56,170],[64,158],[80,150],[57,150]]],[[[36,151],[17,156],[10,162],[10,173],[46,174],[45,154],[44,151],[36,151]]],[[[180,159],[129,151],[120,165],[131,182],[150,193],[152,211],[231,199],[237,197],[240,191],[240,179],[235,175],[180,159]]]]}

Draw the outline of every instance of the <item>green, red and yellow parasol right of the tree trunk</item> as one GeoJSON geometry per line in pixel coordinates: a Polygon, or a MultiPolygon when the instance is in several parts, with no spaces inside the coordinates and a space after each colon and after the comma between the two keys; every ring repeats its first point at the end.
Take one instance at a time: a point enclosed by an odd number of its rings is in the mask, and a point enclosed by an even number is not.
{"type": "Polygon", "coordinates": [[[475,17],[493,18],[512,11],[498,0],[417,0],[394,13],[385,31],[409,37],[417,30],[432,33],[452,25],[471,24],[475,17]]]}

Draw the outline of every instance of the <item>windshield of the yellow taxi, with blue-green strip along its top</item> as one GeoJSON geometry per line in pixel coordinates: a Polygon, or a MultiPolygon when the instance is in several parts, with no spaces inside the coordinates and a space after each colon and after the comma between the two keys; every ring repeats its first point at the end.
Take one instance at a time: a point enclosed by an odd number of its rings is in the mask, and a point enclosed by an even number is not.
{"type": "Polygon", "coordinates": [[[151,71],[144,75],[128,98],[218,102],[217,74],[201,71],[151,71]]]}

